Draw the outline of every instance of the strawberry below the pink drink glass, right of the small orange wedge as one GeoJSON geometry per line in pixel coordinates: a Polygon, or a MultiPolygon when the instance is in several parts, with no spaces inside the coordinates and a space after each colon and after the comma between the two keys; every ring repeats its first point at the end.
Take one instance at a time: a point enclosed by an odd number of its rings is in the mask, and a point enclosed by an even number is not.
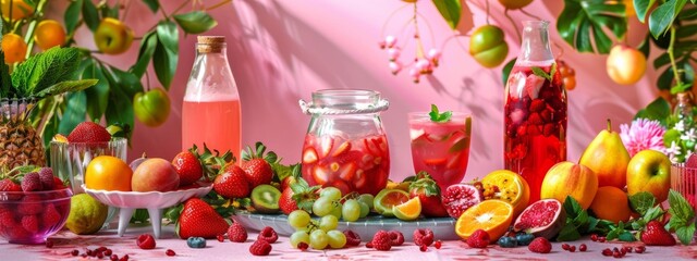
{"type": "Polygon", "coordinates": [[[409,197],[421,201],[421,213],[426,216],[448,216],[440,198],[440,187],[426,172],[417,174],[416,181],[409,185],[409,197]]]}

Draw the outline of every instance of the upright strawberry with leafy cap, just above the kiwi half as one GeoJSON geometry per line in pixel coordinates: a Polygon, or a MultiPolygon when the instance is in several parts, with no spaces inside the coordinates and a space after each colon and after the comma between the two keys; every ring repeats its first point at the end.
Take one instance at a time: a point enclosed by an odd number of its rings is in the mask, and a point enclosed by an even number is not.
{"type": "Polygon", "coordinates": [[[269,151],[265,156],[265,151],[266,146],[261,142],[256,144],[256,151],[249,146],[245,151],[242,151],[242,160],[244,161],[242,167],[247,174],[247,181],[252,188],[261,184],[270,184],[271,179],[273,179],[271,163],[277,163],[277,156],[273,151],[269,151]]]}

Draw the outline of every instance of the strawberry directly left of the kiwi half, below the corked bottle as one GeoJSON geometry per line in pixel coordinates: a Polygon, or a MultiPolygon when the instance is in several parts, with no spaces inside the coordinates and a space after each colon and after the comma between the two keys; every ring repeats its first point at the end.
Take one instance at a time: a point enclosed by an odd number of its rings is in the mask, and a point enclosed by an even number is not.
{"type": "Polygon", "coordinates": [[[213,190],[224,198],[246,198],[249,185],[246,173],[237,165],[225,167],[224,172],[213,181],[213,190]]]}

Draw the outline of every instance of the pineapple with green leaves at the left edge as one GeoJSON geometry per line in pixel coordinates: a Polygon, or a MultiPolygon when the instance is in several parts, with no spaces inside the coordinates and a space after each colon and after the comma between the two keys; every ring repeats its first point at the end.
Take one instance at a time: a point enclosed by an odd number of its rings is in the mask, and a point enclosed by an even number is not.
{"type": "MultiPolygon", "coordinates": [[[[7,64],[0,65],[0,169],[45,164],[44,140],[28,115],[42,98],[97,83],[70,80],[77,71],[80,57],[75,48],[52,48],[19,64],[12,75],[7,64]]],[[[1,51],[0,61],[4,61],[1,51]]]]}

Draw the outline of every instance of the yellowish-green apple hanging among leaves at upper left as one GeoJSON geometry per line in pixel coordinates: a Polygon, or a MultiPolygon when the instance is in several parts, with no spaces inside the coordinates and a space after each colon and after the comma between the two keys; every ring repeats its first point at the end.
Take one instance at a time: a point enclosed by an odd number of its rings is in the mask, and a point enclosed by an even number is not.
{"type": "Polygon", "coordinates": [[[95,30],[95,44],[103,53],[123,53],[133,44],[133,30],[119,20],[106,17],[95,30]]]}

